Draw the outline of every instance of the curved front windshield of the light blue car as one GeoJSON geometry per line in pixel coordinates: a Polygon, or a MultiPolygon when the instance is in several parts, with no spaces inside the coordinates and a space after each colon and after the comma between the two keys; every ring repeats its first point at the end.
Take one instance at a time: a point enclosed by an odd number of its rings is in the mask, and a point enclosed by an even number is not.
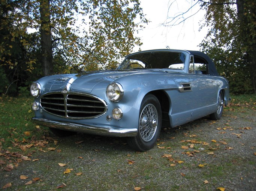
{"type": "Polygon", "coordinates": [[[118,66],[117,70],[127,69],[175,69],[183,70],[186,55],[181,52],[152,51],[132,54],[118,66]]]}

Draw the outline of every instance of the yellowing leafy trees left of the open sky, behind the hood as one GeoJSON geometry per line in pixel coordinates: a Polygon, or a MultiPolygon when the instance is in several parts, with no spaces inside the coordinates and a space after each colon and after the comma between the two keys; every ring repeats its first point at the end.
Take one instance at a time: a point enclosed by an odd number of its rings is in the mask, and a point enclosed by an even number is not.
{"type": "Polygon", "coordinates": [[[43,35],[51,37],[52,74],[115,68],[141,45],[135,33],[148,21],[139,5],[139,0],[0,0],[0,66],[7,83],[1,93],[16,84],[18,94],[18,87],[43,76],[43,35]]]}

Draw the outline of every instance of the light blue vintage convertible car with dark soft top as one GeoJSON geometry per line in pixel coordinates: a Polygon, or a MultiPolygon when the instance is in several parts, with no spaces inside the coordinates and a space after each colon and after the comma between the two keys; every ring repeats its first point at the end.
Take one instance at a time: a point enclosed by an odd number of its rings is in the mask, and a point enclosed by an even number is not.
{"type": "Polygon", "coordinates": [[[162,127],[220,119],[230,99],[206,54],[169,49],[130,54],[115,70],[46,76],[30,92],[33,121],[54,134],[127,137],[138,151],[154,147],[162,127]]]}

